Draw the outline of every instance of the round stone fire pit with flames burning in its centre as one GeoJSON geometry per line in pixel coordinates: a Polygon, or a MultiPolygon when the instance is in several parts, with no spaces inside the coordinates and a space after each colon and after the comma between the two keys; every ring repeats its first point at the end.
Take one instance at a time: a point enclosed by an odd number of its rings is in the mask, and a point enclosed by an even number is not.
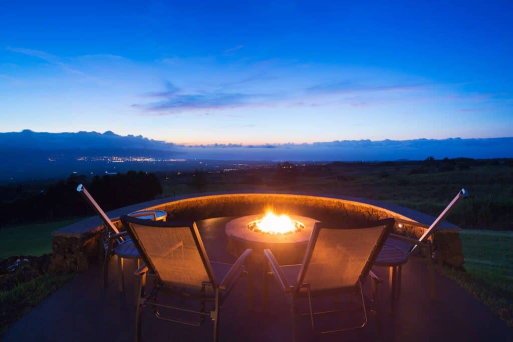
{"type": "Polygon", "coordinates": [[[233,219],[225,227],[228,251],[237,256],[252,248],[252,259],[259,262],[263,260],[263,250],[269,248],[280,264],[299,264],[317,221],[272,212],[233,219]]]}

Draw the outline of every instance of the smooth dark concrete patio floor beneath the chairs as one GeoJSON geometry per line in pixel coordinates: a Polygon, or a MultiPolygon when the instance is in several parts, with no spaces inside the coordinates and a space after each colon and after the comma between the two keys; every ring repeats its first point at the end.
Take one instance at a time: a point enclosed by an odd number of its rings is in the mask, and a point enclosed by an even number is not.
{"type": "MultiPolygon", "coordinates": [[[[226,251],[224,225],[231,218],[199,221],[198,226],[211,261],[232,263],[226,251]]],[[[2,336],[4,341],[132,341],[134,327],[134,266],[126,262],[125,292],[117,292],[116,258],[111,260],[110,284],[104,289],[99,267],[75,277],[18,320],[2,336]]],[[[437,275],[437,300],[429,300],[427,271],[423,264],[410,261],[403,267],[402,293],[396,312],[388,313],[388,270],[374,267],[384,279],[380,286],[379,317],[383,341],[482,341],[513,340],[510,329],[484,304],[472,298],[458,285],[437,275]]],[[[225,302],[220,320],[221,341],[288,341],[291,340],[291,315],[288,302],[271,281],[269,309],[262,312],[261,274],[255,274],[255,309],[247,308],[247,279],[242,279],[225,302]]],[[[368,284],[367,284],[368,285],[368,284]]],[[[366,293],[370,295],[368,288],[366,293]]],[[[343,305],[328,298],[332,305],[343,305]]],[[[344,300],[344,298],[342,298],[344,300]]],[[[314,302],[315,305],[316,302],[314,302]]],[[[306,311],[306,303],[300,307],[306,311]]],[[[352,316],[354,318],[354,315],[352,316]]],[[[348,323],[351,317],[331,316],[331,327],[348,323]]],[[[206,320],[199,328],[156,319],[151,308],[143,310],[143,340],[207,341],[211,340],[212,323],[206,320]]],[[[314,334],[308,317],[298,324],[301,341],[374,341],[377,324],[369,314],[368,325],[360,330],[330,335],[314,334]]]]}

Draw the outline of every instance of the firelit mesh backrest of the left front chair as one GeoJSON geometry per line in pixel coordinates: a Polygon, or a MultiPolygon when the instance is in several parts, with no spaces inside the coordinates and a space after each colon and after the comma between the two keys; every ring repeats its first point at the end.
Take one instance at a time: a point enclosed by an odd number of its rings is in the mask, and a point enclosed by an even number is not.
{"type": "Polygon", "coordinates": [[[121,222],[146,266],[165,286],[200,290],[203,283],[210,283],[211,289],[218,287],[195,222],[154,222],[126,215],[121,222]]]}

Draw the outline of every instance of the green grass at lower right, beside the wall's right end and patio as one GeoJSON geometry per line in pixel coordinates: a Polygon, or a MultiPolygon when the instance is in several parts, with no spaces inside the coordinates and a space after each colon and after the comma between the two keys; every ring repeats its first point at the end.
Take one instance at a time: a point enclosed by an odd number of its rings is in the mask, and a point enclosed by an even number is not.
{"type": "Polygon", "coordinates": [[[447,275],[513,327],[513,231],[461,231],[465,269],[447,275]]]}

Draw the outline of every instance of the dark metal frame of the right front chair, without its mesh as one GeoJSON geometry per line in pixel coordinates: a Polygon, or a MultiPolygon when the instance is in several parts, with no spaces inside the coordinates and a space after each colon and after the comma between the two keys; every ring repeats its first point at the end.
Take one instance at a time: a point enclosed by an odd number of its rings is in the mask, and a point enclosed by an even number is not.
{"type": "MultiPolygon", "coordinates": [[[[332,288],[332,289],[325,289],[325,290],[317,290],[317,291],[310,291],[310,285],[303,283],[304,277],[306,275],[308,266],[310,264],[310,260],[312,257],[313,250],[315,248],[315,243],[317,242],[317,239],[319,237],[319,233],[321,229],[334,229],[334,228],[327,228],[323,227],[324,223],[317,222],[315,223],[312,234],[310,236],[310,240],[308,241],[308,245],[305,252],[305,257],[303,259],[303,263],[301,264],[301,268],[298,274],[298,281],[297,284],[294,286],[289,285],[285,274],[283,273],[282,268],[283,267],[290,267],[290,266],[300,266],[300,265],[284,265],[280,266],[278,261],[274,258],[274,255],[269,249],[264,250],[264,263],[268,265],[268,270],[264,268],[264,311],[267,309],[267,277],[270,275],[274,276],[274,279],[278,282],[281,289],[285,293],[287,299],[289,300],[291,312],[292,312],[292,340],[296,340],[296,334],[295,334],[295,327],[296,327],[296,316],[297,316],[297,305],[296,302],[300,298],[307,298],[308,300],[308,312],[306,313],[299,313],[300,316],[309,316],[310,317],[310,324],[312,327],[312,330],[314,332],[320,333],[320,334],[330,334],[330,333],[336,333],[336,332],[343,332],[343,331],[349,331],[349,330],[357,330],[364,328],[367,324],[367,307],[369,307],[370,311],[373,313],[373,315],[376,317],[378,321],[378,326],[380,327],[380,321],[377,314],[377,307],[378,307],[378,285],[382,283],[383,281],[371,271],[372,264],[376,257],[378,256],[379,251],[381,250],[381,247],[383,246],[386,237],[390,233],[390,231],[393,228],[395,221],[393,218],[386,218],[379,221],[375,221],[372,223],[369,223],[369,225],[366,225],[361,228],[367,228],[367,227],[376,227],[380,225],[386,225],[386,228],[383,229],[383,232],[381,233],[378,243],[374,246],[374,248],[371,251],[371,254],[362,269],[362,272],[354,286],[351,287],[341,287],[341,288],[332,288]],[[367,275],[370,276],[372,283],[371,283],[371,300],[370,305],[365,305],[365,296],[363,294],[363,288],[362,284],[365,281],[367,275]],[[305,291],[301,291],[302,289],[306,288],[305,291]],[[362,309],[364,320],[361,325],[348,327],[348,328],[340,328],[340,329],[333,329],[333,330],[325,330],[325,331],[318,331],[315,328],[314,323],[314,316],[317,315],[327,315],[337,312],[343,312],[343,311],[349,311],[352,309],[337,309],[337,310],[329,310],[329,311],[319,311],[314,312],[312,309],[312,296],[322,296],[322,295],[338,295],[338,294],[356,294],[360,301],[361,306],[356,309],[362,309]]],[[[329,225],[332,227],[333,225],[329,225]]],[[[265,267],[265,265],[264,265],[265,267]]],[[[381,330],[381,328],[379,329],[381,330]]]]}

